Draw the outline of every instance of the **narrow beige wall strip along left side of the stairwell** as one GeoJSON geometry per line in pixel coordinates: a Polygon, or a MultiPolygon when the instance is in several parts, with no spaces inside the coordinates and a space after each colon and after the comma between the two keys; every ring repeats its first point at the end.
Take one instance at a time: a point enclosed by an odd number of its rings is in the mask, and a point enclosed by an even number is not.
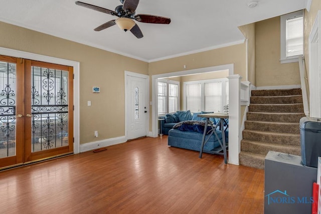
{"type": "Polygon", "coordinates": [[[256,73],[255,73],[255,23],[240,26],[240,31],[247,39],[247,79],[242,81],[250,81],[253,85],[256,85],[256,73]]]}

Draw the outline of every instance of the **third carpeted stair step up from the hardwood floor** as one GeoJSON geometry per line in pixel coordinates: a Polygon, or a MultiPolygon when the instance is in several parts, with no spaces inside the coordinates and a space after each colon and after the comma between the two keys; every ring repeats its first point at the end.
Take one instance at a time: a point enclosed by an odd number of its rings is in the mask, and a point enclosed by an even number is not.
{"type": "Polygon", "coordinates": [[[283,145],[300,145],[300,134],[275,133],[247,129],[244,129],[242,134],[244,140],[279,143],[283,145]]]}

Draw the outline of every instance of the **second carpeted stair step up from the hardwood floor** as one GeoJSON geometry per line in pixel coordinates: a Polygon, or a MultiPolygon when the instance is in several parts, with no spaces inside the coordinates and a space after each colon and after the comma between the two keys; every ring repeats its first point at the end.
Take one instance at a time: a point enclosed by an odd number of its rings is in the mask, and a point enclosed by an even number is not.
{"type": "Polygon", "coordinates": [[[282,145],[276,143],[262,143],[259,141],[242,140],[241,150],[246,152],[266,155],[269,151],[283,152],[293,155],[301,155],[301,147],[298,145],[282,145]]]}

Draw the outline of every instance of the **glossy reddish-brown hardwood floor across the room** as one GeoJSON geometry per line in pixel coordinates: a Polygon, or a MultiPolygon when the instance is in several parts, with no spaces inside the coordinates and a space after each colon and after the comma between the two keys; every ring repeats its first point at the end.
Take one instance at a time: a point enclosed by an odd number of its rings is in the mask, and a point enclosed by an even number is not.
{"type": "Polygon", "coordinates": [[[141,138],[0,172],[1,213],[263,213],[264,170],[141,138]]]}

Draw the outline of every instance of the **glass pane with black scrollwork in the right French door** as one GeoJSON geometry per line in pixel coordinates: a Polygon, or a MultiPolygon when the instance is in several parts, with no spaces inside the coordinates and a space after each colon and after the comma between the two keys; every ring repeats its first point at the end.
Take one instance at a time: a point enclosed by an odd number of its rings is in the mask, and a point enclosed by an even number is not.
{"type": "Polygon", "coordinates": [[[68,146],[68,72],[32,67],[32,152],[68,146]]]}

